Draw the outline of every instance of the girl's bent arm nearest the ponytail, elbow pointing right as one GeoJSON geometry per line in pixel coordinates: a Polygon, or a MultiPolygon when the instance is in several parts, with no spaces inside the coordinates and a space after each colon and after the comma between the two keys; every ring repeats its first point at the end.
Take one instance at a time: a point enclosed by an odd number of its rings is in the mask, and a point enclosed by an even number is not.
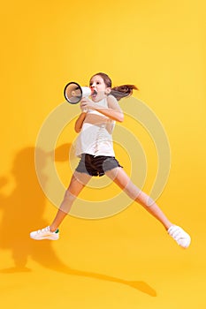
{"type": "Polygon", "coordinates": [[[122,109],[118,105],[117,99],[113,95],[107,97],[108,108],[98,106],[97,103],[91,102],[88,99],[81,100],[81,108],[95,109],[106,117],[122,122],[124,120],[124,114],[122,109]]]}

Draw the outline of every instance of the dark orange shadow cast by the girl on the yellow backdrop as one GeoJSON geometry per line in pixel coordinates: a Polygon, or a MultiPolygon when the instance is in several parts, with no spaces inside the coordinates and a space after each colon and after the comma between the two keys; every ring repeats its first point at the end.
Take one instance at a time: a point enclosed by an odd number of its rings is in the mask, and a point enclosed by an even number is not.
{"type": "MultiPolygon", "coordinates": [[[[68,160],[69,148],[69,144],[59,147],[56,151],[56,160],[68,160]]],[[[156,297],[156,291],[149,287],[147,283],[126,281],[110,275],[69,268],[58,258],[52,247],[52,242],[30,239],[29,233],[31,229],[36,226],[45,227],[49,224],[43,218],[46,198],[36,177],[34,151],[36,151],[34,147],[26,147],[19,151],[11,170],[15,179],[15,188],[10,196],[0,195],[0,211],[3,212],[0,225],[0,248],[11,250],[14,261],[13,268],[0,269],[0,273],[32,271],[32,269],[27,268],[27,259],[31,257],[44,268],[68,275],[80,275],[107,282],[126,284],[136,290],[141,290],[149,296],[156,297]],[[48,257],[50,258],[48,259],[48,257]]],[[[44,175],[44,169],[47,166],[50,154],[44,153],[41,149],[37,149],[37,151],[39,151],[42,158],[41,172],[42,181],[45,185],[47,175],[44,175]]],[[[6,184],[6,177],[0,178],[0,189],[4,188],[6,184]]]]}

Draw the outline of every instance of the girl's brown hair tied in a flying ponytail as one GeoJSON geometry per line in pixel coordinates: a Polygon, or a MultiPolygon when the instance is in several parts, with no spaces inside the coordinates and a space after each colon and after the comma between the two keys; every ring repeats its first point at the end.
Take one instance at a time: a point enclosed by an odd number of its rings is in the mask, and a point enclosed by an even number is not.
{"type": "MultiPolygon", "coordinates": [[[[91,77],[91,79],[96,75],[101,76],[106,87],[111,88],[111,78],[107,74],[105,74],[103,72],[99,72],[99,73],[96,73],[95,75],[93,75],[91,77]]],[[[138,88],[134,85],[122,85],[122,86],[111,88],[110,94],[113,95],[119,101],[122,98],[126,98],[127,96],[132,95],[133,90],[138,90],[138,88]]]]}

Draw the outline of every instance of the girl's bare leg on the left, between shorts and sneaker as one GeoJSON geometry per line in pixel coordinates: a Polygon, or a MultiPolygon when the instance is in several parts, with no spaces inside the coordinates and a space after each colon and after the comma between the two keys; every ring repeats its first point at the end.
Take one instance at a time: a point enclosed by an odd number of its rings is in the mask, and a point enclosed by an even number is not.
{"type": "Polygon", "coordinates": [[[69,213],[72,203],[80,194],[81,190],[88,184],[91,176],[85,173],[74,172],[68,189],[65,191],[65,197],[62,201],[54,221],[50,224],[50,231],[55,231],[69,213]]]}

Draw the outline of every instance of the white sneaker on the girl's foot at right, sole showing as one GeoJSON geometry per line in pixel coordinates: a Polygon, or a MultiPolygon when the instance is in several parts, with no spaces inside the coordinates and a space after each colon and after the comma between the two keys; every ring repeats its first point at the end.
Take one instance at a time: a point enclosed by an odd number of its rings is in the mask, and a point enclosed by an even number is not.
{"type": "Polygon", "coordinates": [[[190,245],[191,237],[179,226],[172,225],[167,232],[181,247],[187,248],[190,245]]]}

